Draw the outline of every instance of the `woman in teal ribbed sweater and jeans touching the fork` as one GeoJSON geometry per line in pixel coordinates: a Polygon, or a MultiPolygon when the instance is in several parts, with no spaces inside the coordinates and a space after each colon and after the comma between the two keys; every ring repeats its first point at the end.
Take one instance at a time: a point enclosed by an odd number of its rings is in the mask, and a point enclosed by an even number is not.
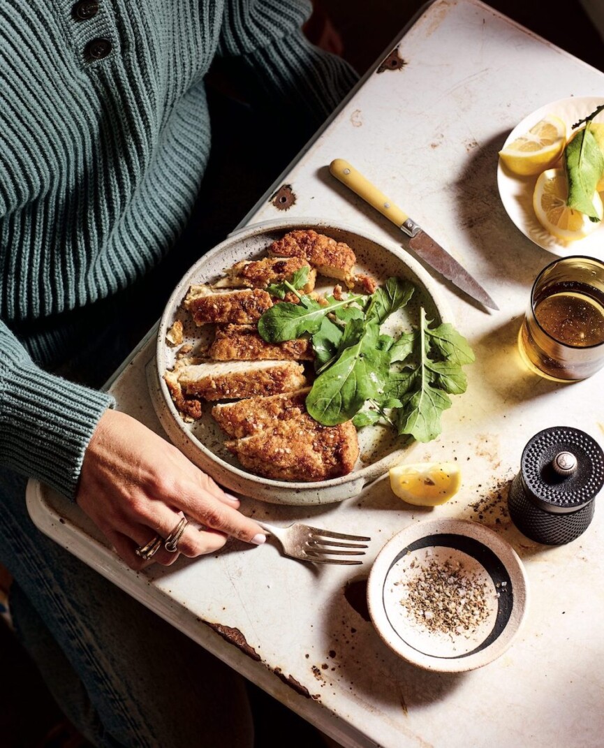
{"type": "Polygon", "coordinates": [[[75,500],[132,569],[264,542],[235,497],[87,383],[125,352],[128,289],[191,212],[210,64],[307,132],[354,83],[306,41],[308,15],[296,0],[0,0],[0,562],[17,633],[98,746],[252,739],[235,675],[42,536],[24,492],[35,476],[75,500]]]}

